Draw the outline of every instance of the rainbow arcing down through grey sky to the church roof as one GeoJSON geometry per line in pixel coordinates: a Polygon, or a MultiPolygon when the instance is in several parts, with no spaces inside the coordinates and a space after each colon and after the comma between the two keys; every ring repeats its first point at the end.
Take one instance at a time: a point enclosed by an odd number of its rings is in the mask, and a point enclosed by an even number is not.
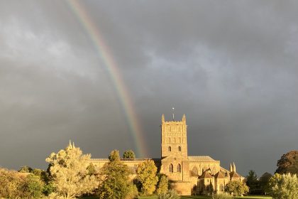
{"type": "Polygon", "coordinates": [[[80,3],[82,1],[68,0],[67,4],[70,6],[72,12],[75,14],[79,22],[88,33],[99,57],[104,61],[104,66],[109,73],[111,82],[115,87],[118,98],[120,99],[121,107],[126,114],[126,120],[128,122],[133,142],[136,147],[136,156],[144,157],[148,156],[145,141],[143,139],[142,130],[140,128],[136,112],[133,109],[131,98],[129,97],[128,90],[122,80],[121,74],[118,70],[116,60],[113,58],[111,50],[104,43],[104,38],[101,36],[99,28],[92,21],[92,18],[88,15],[84,6],[80,3]]]}

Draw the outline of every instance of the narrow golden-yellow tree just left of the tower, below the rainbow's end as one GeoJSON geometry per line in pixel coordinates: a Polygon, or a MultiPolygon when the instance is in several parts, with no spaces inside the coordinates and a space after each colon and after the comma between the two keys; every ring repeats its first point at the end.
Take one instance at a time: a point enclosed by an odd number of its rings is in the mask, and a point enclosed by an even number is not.
{"type": "Polygon", "coordinates": [[[156,176],[158,168],[154,161],[145,160],[137,166],[138,181],[141,184],[141,191],[145,195],[151,195],[155,191],[155,185],[158,183],[158,176],[156,176]]]}

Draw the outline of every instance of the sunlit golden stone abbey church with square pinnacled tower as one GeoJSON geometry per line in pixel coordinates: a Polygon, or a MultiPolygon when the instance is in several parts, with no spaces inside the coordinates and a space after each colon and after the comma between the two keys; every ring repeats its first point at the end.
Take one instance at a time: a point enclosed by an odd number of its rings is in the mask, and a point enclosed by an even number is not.
{"type": "MultiPolygon", "coordinates": [[[[98,169],[108,159],[92,159],[98,169]]],[[[122,159],[133,171],[145,159],[122,159]]],[[[180,195],[208,194],[211,191],[221,193],[229,181],[243,181],[243,176],[236,173],[235,163],[227,170],[210,156],[188,156],[187,123],[183,115],[181,121],[161,121],[161,156],[153,158],[158,171],[169,178],[172,188],[180,195]]]]}

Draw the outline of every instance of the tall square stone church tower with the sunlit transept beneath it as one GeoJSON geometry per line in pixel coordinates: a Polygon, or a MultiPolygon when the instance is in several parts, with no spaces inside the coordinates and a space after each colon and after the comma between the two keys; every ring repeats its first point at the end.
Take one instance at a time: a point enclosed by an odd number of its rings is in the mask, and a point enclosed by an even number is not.
{"type": "Polygon", "coordinates": [[[182,121],[166,122],[162,114],[160,173],[168,176],[178,193],[190,195],[185,115],[182,121]]]}

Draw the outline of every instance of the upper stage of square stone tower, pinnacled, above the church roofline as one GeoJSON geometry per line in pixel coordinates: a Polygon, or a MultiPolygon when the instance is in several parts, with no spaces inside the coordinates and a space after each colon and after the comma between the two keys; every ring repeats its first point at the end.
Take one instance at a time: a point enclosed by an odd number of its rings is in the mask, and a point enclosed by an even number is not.
{"type": "Polygon", "coordinates": [[[165,158],[172,154],[179,153],[187,158],[187,124],[185,114],[182,121],[175,121],[173,113],[173,121],[165,121],[162,114],[161,125],[161,157],[165,158]]]}

